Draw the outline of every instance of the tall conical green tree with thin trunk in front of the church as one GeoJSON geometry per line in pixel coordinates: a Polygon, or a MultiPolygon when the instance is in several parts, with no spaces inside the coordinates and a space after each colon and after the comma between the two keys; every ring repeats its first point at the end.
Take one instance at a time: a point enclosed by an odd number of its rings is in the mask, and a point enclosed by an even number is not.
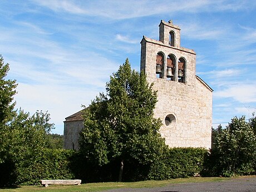
{"type": "Polygon", "coordinates": [[[161,121],[153,117],[156,102],[145,74],[131,70],[126,59],[106,83],[106,95],[100,93],[85,110],[80,151],[100,166],[119,161],[119,181],[125,163],[152,163],[167,149],[161,121]]]}

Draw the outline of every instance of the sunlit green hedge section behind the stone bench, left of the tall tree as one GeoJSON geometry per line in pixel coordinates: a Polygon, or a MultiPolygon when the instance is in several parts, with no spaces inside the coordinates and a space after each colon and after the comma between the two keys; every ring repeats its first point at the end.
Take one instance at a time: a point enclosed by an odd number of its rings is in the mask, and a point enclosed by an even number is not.
{"type": "Polygon", "coordinates": [[[38,185],[41,179],[74,179],[70,163],[75,153],[73,150],[44,149],[16,163],[7,161],[2,164],[5,169],[0,185],[38,185]]]}

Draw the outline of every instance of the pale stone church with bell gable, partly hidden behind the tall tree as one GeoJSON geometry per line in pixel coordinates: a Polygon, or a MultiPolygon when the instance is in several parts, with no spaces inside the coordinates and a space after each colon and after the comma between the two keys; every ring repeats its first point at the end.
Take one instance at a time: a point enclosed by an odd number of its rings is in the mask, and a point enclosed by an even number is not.
{"type": "MultiPolygon", "coordinates": [[[[143,36],[140,69],[157,90],[155,118],[170,147],[211,147],[213,90],[198,76],[196,53],[180,46],[180,28],[172,21],[159,24],[159,41],[143,36]]],[[[64,148],[78,149],[82,111],[64,121],[64,148]]]]}

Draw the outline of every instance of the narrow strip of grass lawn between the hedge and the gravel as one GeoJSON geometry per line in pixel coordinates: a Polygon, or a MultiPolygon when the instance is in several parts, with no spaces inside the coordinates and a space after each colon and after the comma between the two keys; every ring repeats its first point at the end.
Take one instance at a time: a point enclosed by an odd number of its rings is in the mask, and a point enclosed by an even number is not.
{"type": "Polygon", "coordinates": [[[17,188],[0,189],[2,192],[23,192],[23,191],[44,191],[44,192],[90,192],[90,191],[104,191],[107,189],[115,188],[152,188],[157,186],[166,186],[168,184],[177,183],[195,183],[195,182],[208,182],[208,181],[223,181],[230,178],[184,178],[184,179],[171,179],[164,181],[139,181],[132,183],[88,183],[81,185],[49,185],[48,188],[42,186],[19,186],[17,188]]]}

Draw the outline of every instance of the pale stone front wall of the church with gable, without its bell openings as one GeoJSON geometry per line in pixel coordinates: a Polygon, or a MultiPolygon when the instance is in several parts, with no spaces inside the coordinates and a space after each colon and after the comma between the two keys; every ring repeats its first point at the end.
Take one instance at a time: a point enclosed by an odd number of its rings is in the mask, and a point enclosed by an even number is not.
{"type": "Polygon", "coordinates": [[[157,90],[158,101],[154,114],[163,122],[160,133],[170,147],[209,149],[213,90],[195,75],[195,52],[180,47],[179,44],[169,45],[168,30],[176,30],[175,34],[178,36],[175,36],[175,42],[180,42],[180,29],[172,26],[172,23],[161,21],[160,40],[164,37],[164,42],[145,36],[141,41],[141,70],[146,73],[147,81],[154,83],[154,89],[157,90]],[[185,83],[178,81],[178,67],[175,68],[173,80],[168,79],[165,74],[163,78],[156,77],[156,55],[159,52],[164,55],[164,67],[166,67],[168,55],[175,56],[174,65],[176,66],[178,66],[179,58],[185,59],[185,83]]]}

